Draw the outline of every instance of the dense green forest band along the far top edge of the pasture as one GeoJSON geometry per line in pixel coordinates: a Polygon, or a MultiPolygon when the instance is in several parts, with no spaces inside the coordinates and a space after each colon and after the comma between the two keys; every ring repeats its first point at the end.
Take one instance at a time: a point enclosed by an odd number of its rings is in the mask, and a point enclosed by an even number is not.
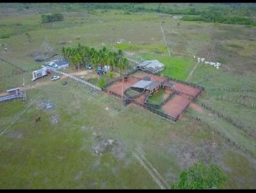
{"type": "MultiPolygon", "coordinates": [[[[20,9],[29,8],[38,9],[38,6],[33,3],[20,4],[20,9]]],[[[256,3],[42,3],[40,8],[49,12],[111,9],[123,10],[125,14],[157,12],[185,15],[182,20],[256,25],[256,3]]]]}

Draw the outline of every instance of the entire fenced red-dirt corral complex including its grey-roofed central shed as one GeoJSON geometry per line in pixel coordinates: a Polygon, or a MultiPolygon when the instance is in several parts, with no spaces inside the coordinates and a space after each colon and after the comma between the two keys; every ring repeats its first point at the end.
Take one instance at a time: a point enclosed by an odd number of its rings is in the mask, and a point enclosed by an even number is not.
{"type": "Polygon", "coordinates": [[[204,91],[204,87],[136,69],[127,74],[127,81],[118,77],[103,90],[109,95],[122,98],[124,105],[136,104],[163,118],[177,121],[187,111],[189,104],[204,91]],[[159,104],[148,101],[149,97],[161,89],[166,97],[159,104]]]}

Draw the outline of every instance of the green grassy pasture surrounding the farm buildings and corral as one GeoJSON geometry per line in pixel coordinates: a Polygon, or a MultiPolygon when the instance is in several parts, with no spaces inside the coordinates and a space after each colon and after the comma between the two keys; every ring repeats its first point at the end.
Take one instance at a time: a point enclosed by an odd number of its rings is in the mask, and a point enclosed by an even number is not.
{"type": "MultiPolygon", "coordinates": [[[[158,59],[166,66],[160,73],[182,80],[196,65],[193,56],[219,61],[221,66],[217,70],[198,64],[189,82],[201,81],[205,91],[193,108],[172,123],[137,105],[124,107],[121,100],[100,91],[95,94],[68,78],[51,82],[44,77],[31,82],[31,72],[16,75],[13,66],[0,61],[0,93],[22,87],[23,75],[31,87],[26,102],[0,104],[0,133],[6,129],[0,135],[1,189],[170,189],[180,171],[197,160],[214,162],[227,173],[225,189],[255,189],[255,158],[220,135],[212,140],[212,131],[192,118],[200,116],[256,157],[255,137],[201,107],[204,102],[256,129],[255,109],[220,100],[225,96],[252,103],[256,102],[255,92],[211,91],[213,87],[256,89],[255,27],[190,22],[163,13],[126,15],[122,10],[61,12],[63,21],[41,24],[41,13],[32,8],[2,10],[0,6],[0,25],[4,25],[0,33],[10,38],[0,39],[0,57],[25,70],[43,64],[34,57],[42,52],[45,38],[54,47],[52,54],[61,54],[61,47],[77,43],[123,49],[134,53],[130,58],[158,59]],[[26,33],[31,35],[31,43],[26,33]],[[63,81],[68,84],[63,86],[63,81]],[[38,109],[45,100],[55,107],[38,109]],[[36,123],[38,116],[41,121],[36,123]]],[[[76,72],[72,67],[63,71],[76,72]]],[[[99,75],[86,72],[77,77],[97,84],[99,75]]],[[[134,76],[142,78],[143,74],[134,76]]],[[[124,84],[124,90],[138,81],[133,79],[124,84]]],[[[122,84],[112,89],[120,91],[122,84]]]]}

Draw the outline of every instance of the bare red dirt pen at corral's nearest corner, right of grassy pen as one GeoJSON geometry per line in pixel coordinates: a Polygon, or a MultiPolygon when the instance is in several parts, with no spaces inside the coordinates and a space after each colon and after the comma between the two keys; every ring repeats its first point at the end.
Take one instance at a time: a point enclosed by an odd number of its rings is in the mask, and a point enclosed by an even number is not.
{"type": "Polygon", "coordinates": [[[188,98],[175,95],[172,100],[169,100],[168,102],[166,102],[166,104],[163,105],[163,109],[169,116],[173,116],[176,118],[189,103],[190,100],[188,100],[188,98]]]}

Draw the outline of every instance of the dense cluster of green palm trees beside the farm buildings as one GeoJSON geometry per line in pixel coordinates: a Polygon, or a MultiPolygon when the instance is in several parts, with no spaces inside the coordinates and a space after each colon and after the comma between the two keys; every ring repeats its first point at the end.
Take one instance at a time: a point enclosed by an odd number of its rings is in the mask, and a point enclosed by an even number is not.
{"type": "Polygon", "coordinates": [[[124,52],[120,49],[117,52],[108,50],[106,47],[97,50],[94,47],[78,43],[77,47],[62,47],[61,52],[74,69],[84,68],[90,64],[95,71],[97,66],[104,67],[104,65],[108,64],[111,67],[111,71],[115,71],[115,68],[117,68],[121,73],[129,68],[129,61],[124,57],[124,52]]]}

